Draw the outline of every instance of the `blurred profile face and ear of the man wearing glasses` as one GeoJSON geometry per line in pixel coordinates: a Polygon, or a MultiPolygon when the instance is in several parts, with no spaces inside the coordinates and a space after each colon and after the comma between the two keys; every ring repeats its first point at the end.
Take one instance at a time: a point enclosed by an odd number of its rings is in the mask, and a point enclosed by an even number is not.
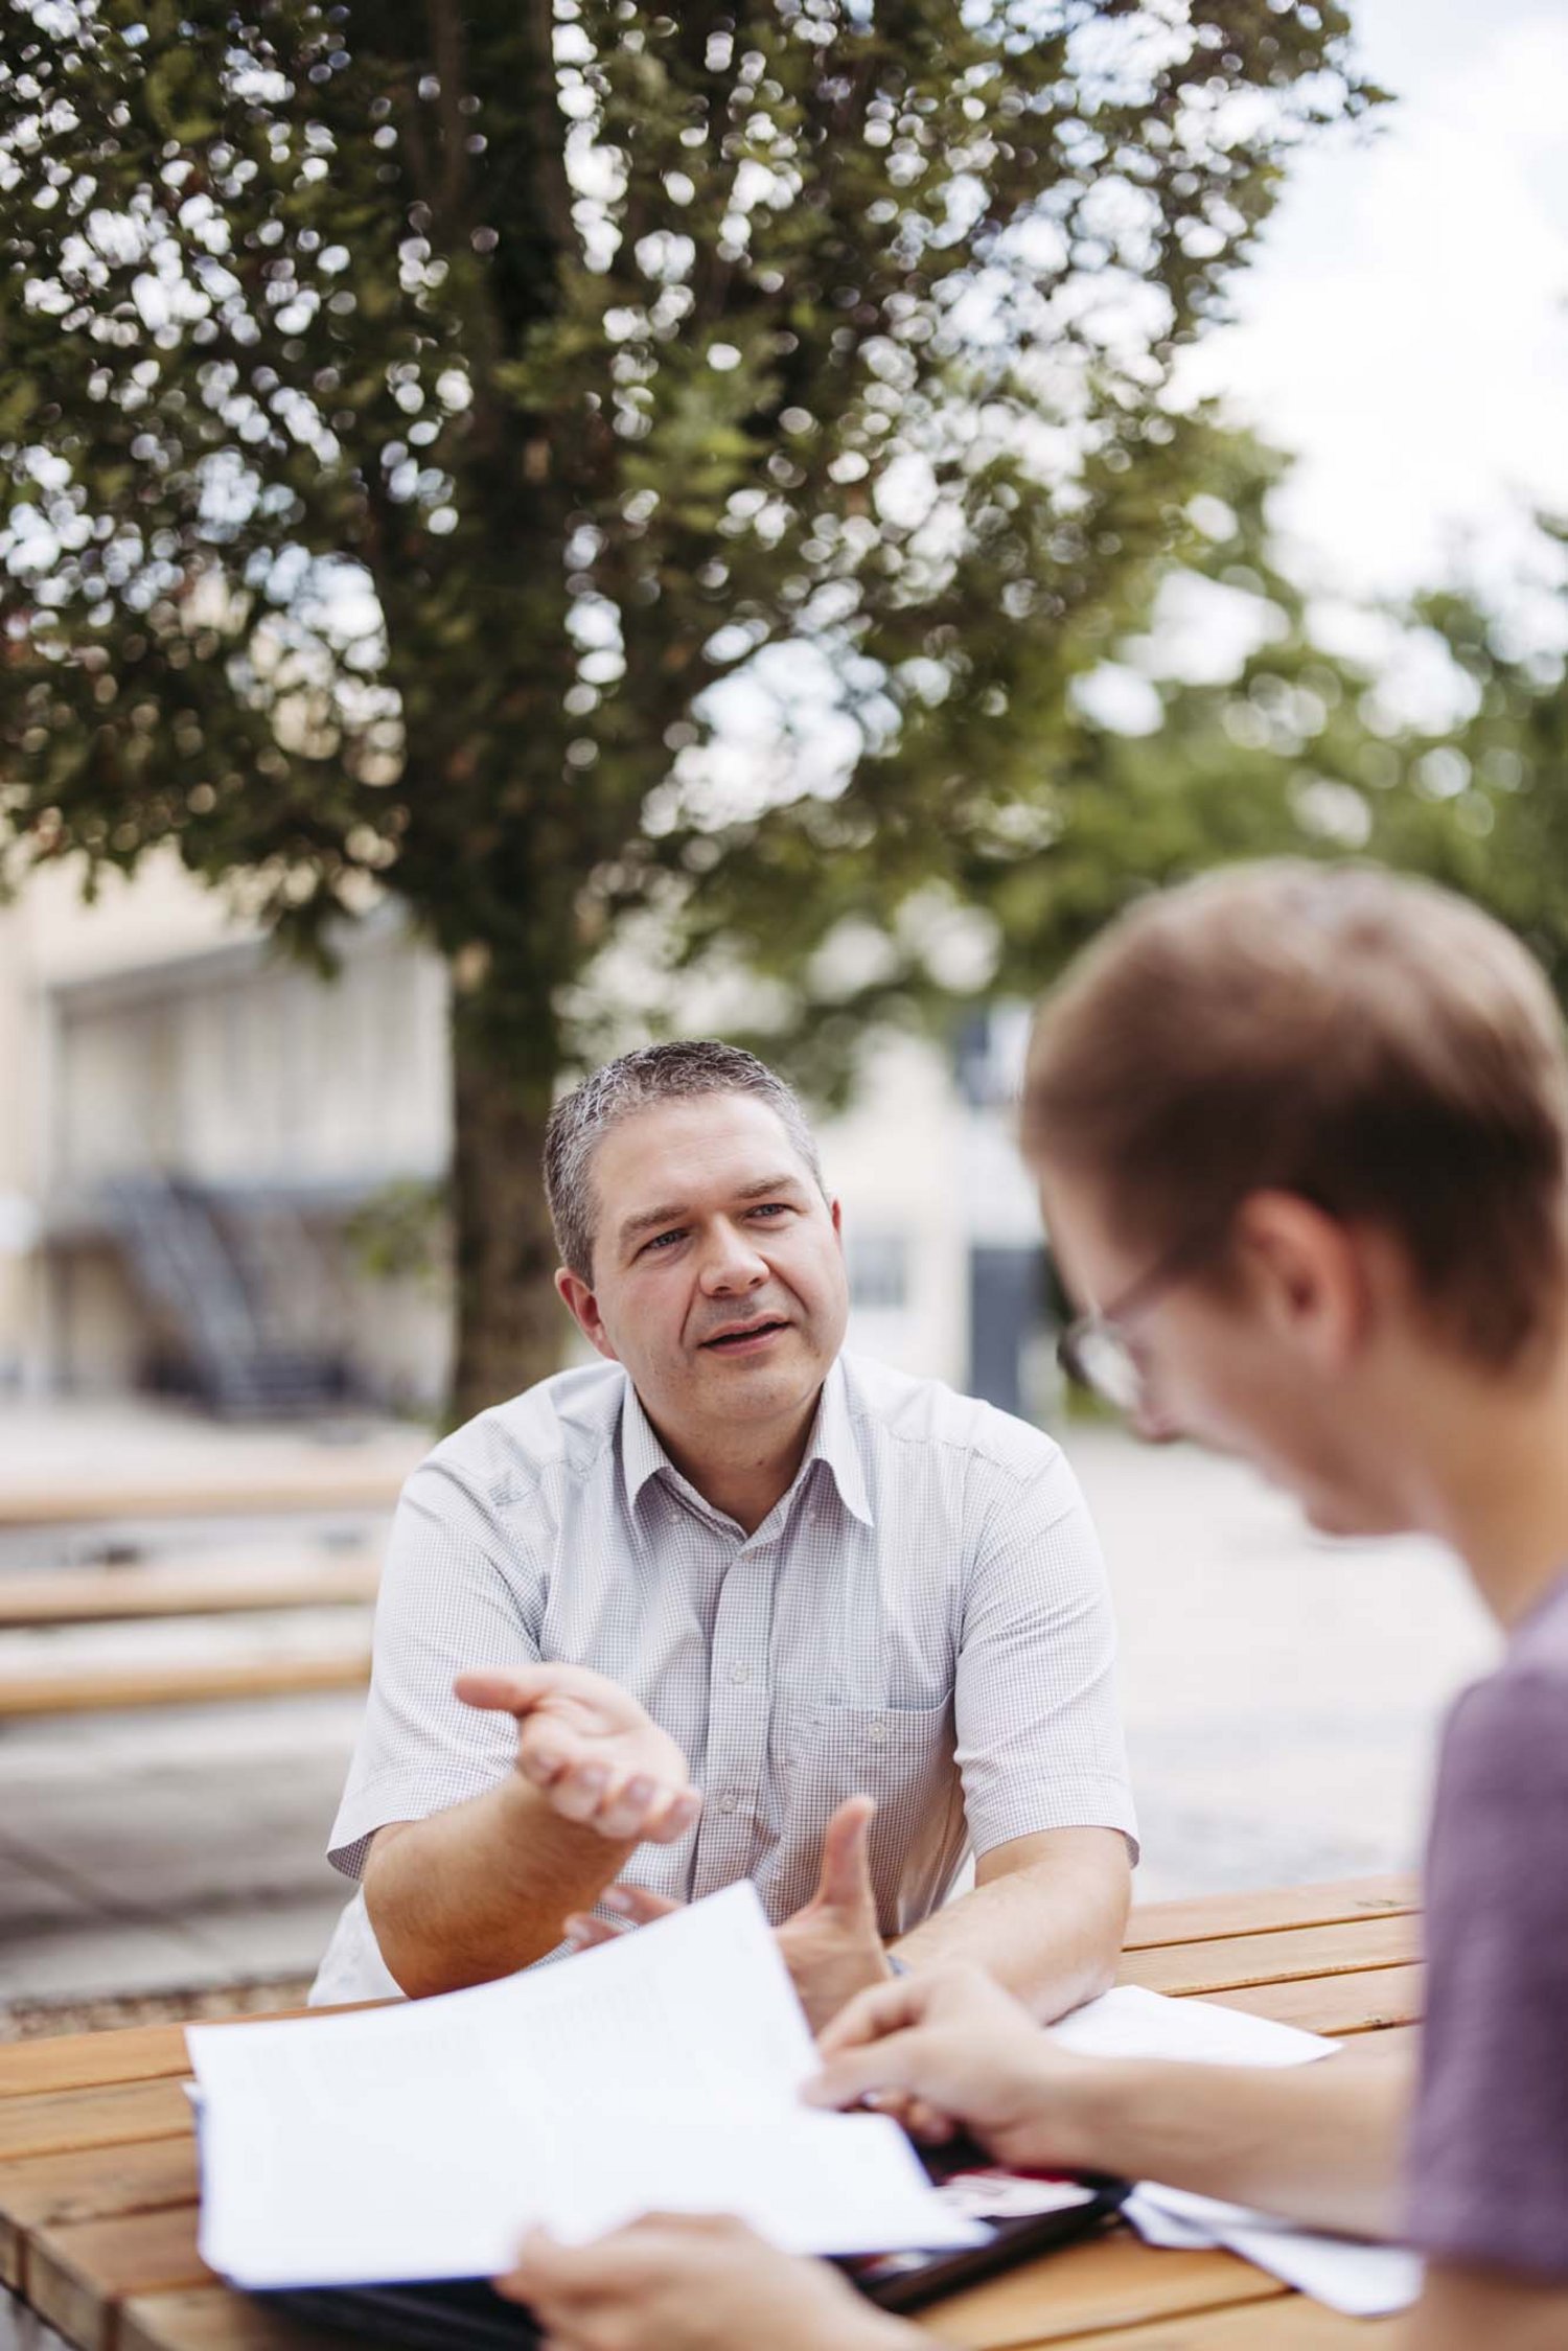
{"type": "MultiPolygon", "coordinates": [[[[1039,1166],[1051,1246],[1079,1307],[1114,1312],[1150,1270],[1081,1178],[1039,1166]]],[[[1173,1281],[1124,1326],[1143,1373],[1138,1429],[1253,1462],[1328,1535],[1399,1533],[1387,1371],[1359,1241],[1316,1208],[1258,1194],[1239,1211],[1237,1279],[1173,1281]]]]}

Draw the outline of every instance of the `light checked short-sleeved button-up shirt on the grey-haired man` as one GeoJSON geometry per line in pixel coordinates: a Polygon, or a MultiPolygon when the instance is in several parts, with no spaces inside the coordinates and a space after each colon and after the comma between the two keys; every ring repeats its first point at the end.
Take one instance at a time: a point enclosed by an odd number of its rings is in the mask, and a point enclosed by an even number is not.
{"type": "MultiPolygon", "coordinates": [[[[684,1749],[705,1794],[625,1878],[693,1900],[811,1900],[823,1829],[877,1799],[884,1935],[919,1925],[969,1850],[1041,1829],[1135,1836],[1100,1547],[1067,1460],[1025,1422],[839,1357],[790,1491],[755,1533],[679,1474],[616,1364],[557,1373],[458,1429],[404,1486],[374,1679],[331,1831],[496,1787],[517,1726],[451,1695],[465,1667],[588,1665],[684,1749]]],[[[357,1895],[315,2001],[395,1991],[357,1895]]]]}

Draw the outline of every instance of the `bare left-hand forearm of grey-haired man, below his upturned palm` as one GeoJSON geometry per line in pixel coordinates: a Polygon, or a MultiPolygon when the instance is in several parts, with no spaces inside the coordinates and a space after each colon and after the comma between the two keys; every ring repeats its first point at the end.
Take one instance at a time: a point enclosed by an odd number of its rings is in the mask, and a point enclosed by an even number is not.
{"type": "Polygon", "coordinates": [[[630,1843],[562,1820],[517,1773],[468,1803],[376,1834],[364,1907],[411,1998],[487,1984],[543,1958],[592,1909],[630,1843]]]}

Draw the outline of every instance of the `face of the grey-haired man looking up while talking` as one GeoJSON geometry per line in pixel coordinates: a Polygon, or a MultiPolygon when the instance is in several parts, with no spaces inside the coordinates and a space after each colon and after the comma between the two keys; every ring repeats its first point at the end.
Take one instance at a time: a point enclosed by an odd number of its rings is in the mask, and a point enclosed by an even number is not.
{"type": "Polygon", "coordinates": [[[738,1425],[792,1429],[844,1345],[839,1208],[750,1093],[621,1119],[592,1171],[592,1288],[559,1274],[585,1335],[658,1427],[701,1458],[738,1425]]]}

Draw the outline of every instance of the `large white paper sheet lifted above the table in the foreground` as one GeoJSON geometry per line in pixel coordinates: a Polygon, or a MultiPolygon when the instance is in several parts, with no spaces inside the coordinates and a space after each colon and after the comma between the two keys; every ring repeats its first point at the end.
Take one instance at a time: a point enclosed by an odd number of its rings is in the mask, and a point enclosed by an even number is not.
{"type": "Polygon", "coordinates": [[[435,2001],[193,2027],[202,2257],[240,2285],[491,2276],[543,2222],[738,2212],[792,2252],[966,2245],[905,2135],[799,2104],[811,2034],[752,1886],[435,2001]]]}

